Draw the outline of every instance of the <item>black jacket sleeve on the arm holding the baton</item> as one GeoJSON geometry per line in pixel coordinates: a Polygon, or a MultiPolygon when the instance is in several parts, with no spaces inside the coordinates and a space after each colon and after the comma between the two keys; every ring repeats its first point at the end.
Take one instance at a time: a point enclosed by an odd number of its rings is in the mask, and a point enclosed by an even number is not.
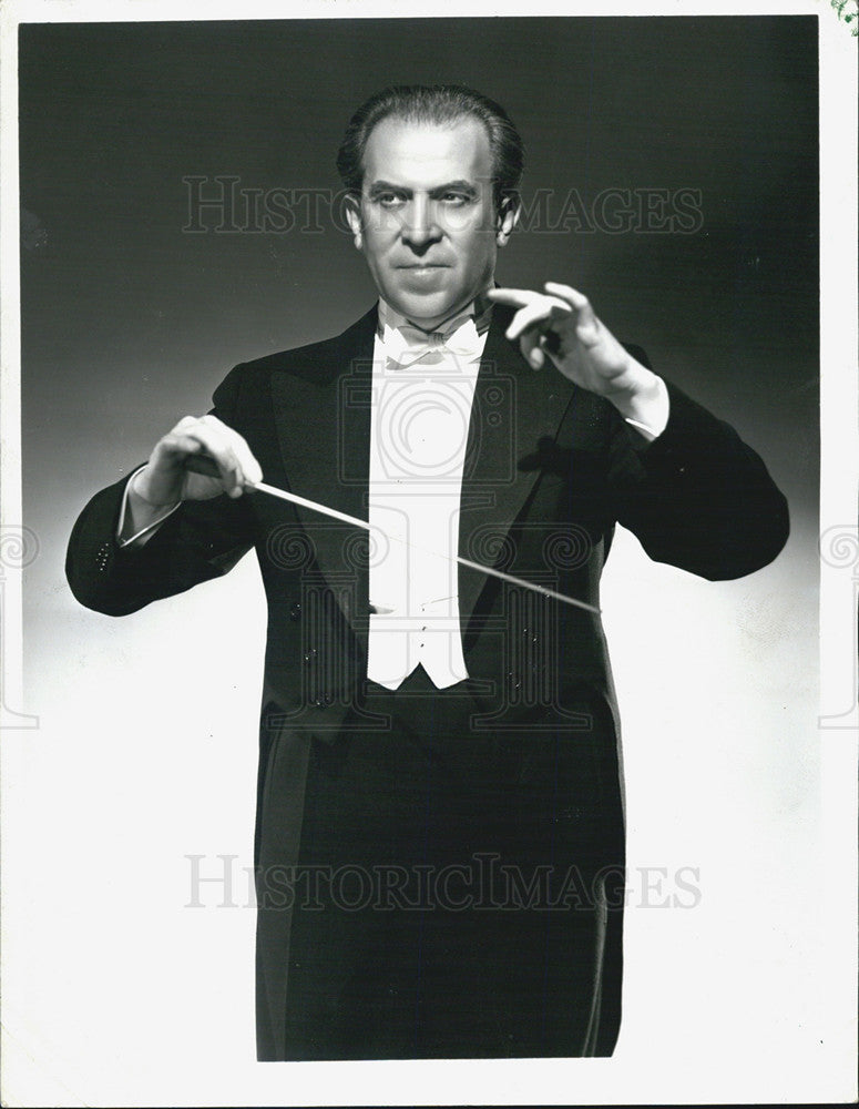
{"type": "MultiPolygon", "coordinates": [[[[233,424],[242,367],[215,390],[213,414],[233,424]]],[[[133,471],[132,471],[133,472],[133,471]]],[[[65,574],[74,597],[108,615],[135,612],[151,601],[183,592],[231,570],[253,546],[248,498],[185,501],[142,547],[120,547],[120,507],[130,475],[102,489],[72,529],[65,574]]]]}

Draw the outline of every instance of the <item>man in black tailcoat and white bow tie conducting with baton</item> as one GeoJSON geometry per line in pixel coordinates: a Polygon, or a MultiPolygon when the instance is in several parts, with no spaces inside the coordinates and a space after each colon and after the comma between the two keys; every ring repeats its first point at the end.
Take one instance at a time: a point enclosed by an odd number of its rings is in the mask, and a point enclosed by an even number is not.
{"type": "Polygon", "coordinates": [[[786,503],[580,292],[494,287],[522,169],[499,105],[385,90],[338,167],[378,307],[236,367],[93,498],[69,580],[121,614],[256,547],[260,1059],[611,1055],[614,526],[739,577],[784,546],[786,503]],[[304,502],[247,496],[263,475],[304,502]]]}

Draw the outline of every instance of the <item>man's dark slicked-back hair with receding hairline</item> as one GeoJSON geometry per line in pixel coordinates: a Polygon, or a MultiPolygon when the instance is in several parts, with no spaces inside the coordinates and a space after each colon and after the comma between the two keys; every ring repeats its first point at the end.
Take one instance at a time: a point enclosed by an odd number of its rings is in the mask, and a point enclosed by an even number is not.
{"type": "Polygon", "coordinates": [[[524,167],[524,144],[504,109],[482,93],[460,84],[389,85],[375,93],[352,115],[337,152],[337,170],[351,193],[364,182],[364,152],[372,129],[390,116],[407,123],[446,126],[471,116],[482,123],[492,155],[495,213],[505,202],[518,203],[524,167]]]}

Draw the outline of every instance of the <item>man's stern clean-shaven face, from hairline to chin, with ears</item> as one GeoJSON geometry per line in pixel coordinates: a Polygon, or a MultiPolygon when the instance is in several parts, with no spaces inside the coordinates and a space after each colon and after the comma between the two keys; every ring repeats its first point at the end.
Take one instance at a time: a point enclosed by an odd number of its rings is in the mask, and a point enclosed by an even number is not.
{"type": "Polygon", "coordinates": [[[491,284],[515,223],[513,212],[495,217],[489,140],[468,115],[446,126],[378,123],[348,218],[379,295],[426,330],[491,284]]]}

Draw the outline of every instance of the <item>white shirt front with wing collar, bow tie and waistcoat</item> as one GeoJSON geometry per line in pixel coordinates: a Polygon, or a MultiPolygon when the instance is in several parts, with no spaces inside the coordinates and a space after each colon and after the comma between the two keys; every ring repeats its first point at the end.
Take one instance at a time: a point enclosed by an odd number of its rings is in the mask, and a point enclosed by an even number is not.
{"type": "Polygon", "coordinates": [[[428,335],[384,301],[372,364],[367,676],[396,690],[422,665],[468,678],[456,557],[468,429],[489,316],[428,335]]]}

